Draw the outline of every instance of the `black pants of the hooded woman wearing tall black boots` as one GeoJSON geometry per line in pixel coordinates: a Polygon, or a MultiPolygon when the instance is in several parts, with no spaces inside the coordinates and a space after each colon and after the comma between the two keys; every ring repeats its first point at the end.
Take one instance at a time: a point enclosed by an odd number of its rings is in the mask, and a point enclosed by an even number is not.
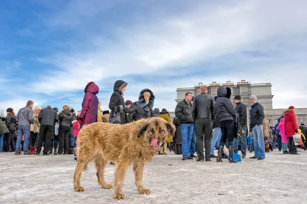
{"type": "Polygon", "coordinates": [[[221,124],[221,131],[222,131],[222,137],[220,141],[220,146],[223,146],[226,144],[228,140],[228,146],[233,146],[233,120],[226,120],[220,122],[221,124]]]}

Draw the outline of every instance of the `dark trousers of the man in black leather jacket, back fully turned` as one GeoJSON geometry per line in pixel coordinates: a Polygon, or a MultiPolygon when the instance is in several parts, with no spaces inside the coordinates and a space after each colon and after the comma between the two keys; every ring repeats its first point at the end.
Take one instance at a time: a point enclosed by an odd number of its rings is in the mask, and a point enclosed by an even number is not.
{"type": "Polygon", "coordinates": [[[211,132],[213,123],[210,118],[196,119],[194,123],[196,134],[196,152],[200,160],[204,160],[204,137],[205,137],[205,155],[206,160],[210,159],[211,150],[211,132]]]}

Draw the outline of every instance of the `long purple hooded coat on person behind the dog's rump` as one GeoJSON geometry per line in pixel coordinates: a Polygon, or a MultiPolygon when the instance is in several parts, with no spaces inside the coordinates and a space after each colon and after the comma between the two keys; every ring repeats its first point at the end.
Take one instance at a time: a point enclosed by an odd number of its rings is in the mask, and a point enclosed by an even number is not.
{"type": "Polygon", "coordinates": [[[90,82],[85,86],[84,93],[82,112],[78,117],[78,120],[82,121],[80,129],[83,125],[97,122],[98,97],[96,94],[99,93],[99,87],[94,82],[90,82]]]}

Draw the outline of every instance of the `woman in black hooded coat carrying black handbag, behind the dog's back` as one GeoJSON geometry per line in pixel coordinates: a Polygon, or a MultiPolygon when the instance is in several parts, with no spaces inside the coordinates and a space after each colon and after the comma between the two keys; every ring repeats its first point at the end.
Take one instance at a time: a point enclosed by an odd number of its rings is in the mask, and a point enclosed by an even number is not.
{"type": "MultiPolygon", "coordinates": [[[[110,102],[109,102],[109,109],[111,110],[110,116],[109,116],[109,120],[111,121],[111,119],[114,117],[114,113],[115,113],[115,107],[117,108],[117,111],[119,112],[119,106],[122,105],[123,107],[125,107],[125,100],[123,97],[123,93],[121,93],[121,89],[124,86],[127,86],[127,82],[122,81],[122,80],[117,80],[114,83],[114,87],[113,87],[113,94],[110,98],[110,102]]],[[[125,111],[125,108],[124,108],[125,111]]],[[[129,112],[127,112],[128,114],[129,112]]],[[[120,120],[121,120],[121,124],[126,124],[129,123],[129,117],[126,115],[125,112],[122,112],[120,114],[120,120]]]]}

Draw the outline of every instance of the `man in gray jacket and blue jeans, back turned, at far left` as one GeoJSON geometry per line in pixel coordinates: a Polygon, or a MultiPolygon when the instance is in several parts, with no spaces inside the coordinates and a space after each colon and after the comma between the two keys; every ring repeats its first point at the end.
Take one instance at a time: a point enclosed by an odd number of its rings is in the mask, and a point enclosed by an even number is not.
{"type": "Polygon", "coordinates": [[[33,119],[33,101],[28,101],[26,107],[20,108],[16,116],[18,121],[17,141],[15,155],[20,155],[20,145],[24,135],[24,154],[31,155],[29,152],[30,125],[34,123],[33,119]]]}

